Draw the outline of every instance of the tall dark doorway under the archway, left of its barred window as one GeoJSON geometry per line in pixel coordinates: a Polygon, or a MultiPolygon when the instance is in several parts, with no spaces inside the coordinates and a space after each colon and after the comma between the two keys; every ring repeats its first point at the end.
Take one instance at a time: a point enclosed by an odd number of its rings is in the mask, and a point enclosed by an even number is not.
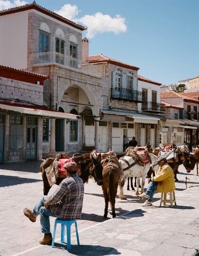
{"type": "MultiPolygon", "coordinates": [[[[64,112],[59,107],[60,112],[64,112]]],[[[55,120],[55,151],[64,151],[64,119],[55,120]]]]}

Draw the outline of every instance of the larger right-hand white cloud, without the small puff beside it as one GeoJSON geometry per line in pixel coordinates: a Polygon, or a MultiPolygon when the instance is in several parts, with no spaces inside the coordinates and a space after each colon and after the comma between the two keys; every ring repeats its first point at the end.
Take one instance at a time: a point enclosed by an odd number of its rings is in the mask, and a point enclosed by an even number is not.
{"type": "Polygon", "coordinates": [[[88,27],[86,36],[89,38],[95,37],[98,33],[113,32],[118,35],[127,32],[125,18],[120,15],[116,15],[112,18],[109,15],[97,12],[94,15],[85,15],[82,18],[76,19],[76,21],[88,27]]]}

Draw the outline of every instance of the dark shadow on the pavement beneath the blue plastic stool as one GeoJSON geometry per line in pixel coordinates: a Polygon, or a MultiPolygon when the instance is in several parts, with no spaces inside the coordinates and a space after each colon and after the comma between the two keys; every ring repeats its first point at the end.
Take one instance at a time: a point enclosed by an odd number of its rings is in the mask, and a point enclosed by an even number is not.
{"type": "MultiPolygon", "coordinates": [[[[54,243],[54,248],[59,249],[66,249],[66,244],[58,244],[54,243]]],[[[104,256],[104,255],[121,255],[120,252],[118,252],[117,249],[113,247],[104,247],[104,246],[98,246],[98,245],[71,245],[71,255],[78,255],[78,256],[104,256]]],[[[58,255],[58,254],[57,254],[58,255]]]]}

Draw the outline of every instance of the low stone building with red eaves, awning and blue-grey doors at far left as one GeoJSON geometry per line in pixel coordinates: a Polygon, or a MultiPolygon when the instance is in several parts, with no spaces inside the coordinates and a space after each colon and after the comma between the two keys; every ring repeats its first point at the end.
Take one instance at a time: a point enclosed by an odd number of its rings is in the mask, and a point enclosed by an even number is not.
{"type": "Polygon", "coordinates": [[[0,65],[0,162],[41,160],[45,141],[53,137],[49,119],[76,119],[43,106],[47,78],[0,65]]]}

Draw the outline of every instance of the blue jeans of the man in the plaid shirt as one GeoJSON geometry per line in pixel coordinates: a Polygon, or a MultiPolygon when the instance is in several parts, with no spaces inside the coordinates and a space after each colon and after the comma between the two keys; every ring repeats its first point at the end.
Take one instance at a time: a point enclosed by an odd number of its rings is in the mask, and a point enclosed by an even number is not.
{"type": "Polygon", "coordinates": [[[32,213],[35,217],[40,214],[40,223],[41,223],[41,231],[42,233],[50,233],[50,219],[49,217],[59,218],[59,216],[55,215],[49,209],[46,209],[44,206],[45,197],[43,196],[41,200],[36,204],[32,213]]]}

